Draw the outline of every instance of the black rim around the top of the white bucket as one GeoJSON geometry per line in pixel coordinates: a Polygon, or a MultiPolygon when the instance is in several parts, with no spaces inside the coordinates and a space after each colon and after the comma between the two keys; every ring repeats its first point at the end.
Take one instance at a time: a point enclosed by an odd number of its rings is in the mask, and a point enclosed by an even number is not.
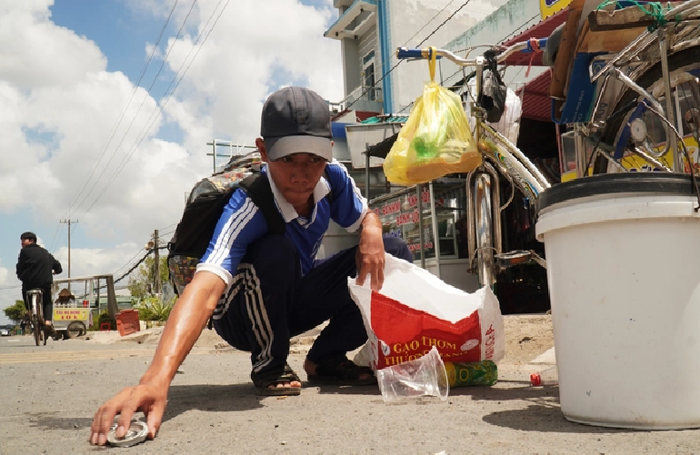
{"type": "Polygon", "coordinates": [[[540,193],[535,217],[555,203],[564,203],[602,194],[657,193],[692,196],[695,194],[689,173],[604,173],[556,183],[540,193]]]}

